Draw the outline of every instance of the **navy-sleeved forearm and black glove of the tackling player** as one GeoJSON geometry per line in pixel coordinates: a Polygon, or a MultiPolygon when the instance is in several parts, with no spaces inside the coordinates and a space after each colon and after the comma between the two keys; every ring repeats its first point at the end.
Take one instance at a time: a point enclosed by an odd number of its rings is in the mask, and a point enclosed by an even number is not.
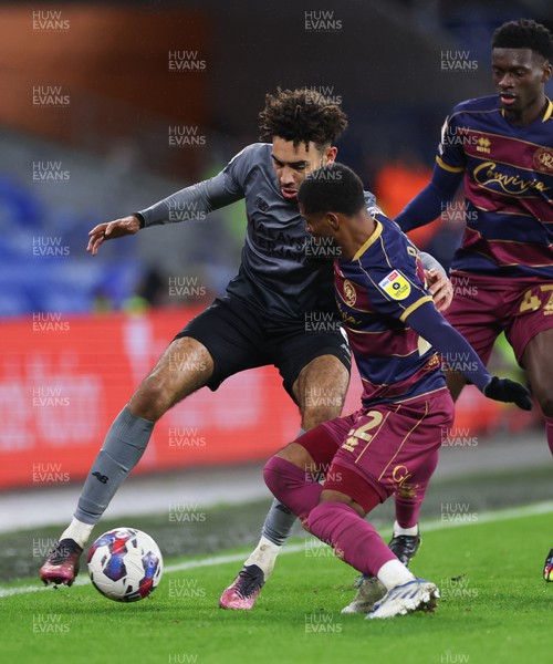
{"type": "Polygon", "coordinates": [[[530,392],[514,381],[492,376],[468,341],[457,332],[431,302],[425,302],[404,322],[439,351],[447,364],[463,374],[486,396],[514,403],[523,411],[532,409],[530,392]]]}

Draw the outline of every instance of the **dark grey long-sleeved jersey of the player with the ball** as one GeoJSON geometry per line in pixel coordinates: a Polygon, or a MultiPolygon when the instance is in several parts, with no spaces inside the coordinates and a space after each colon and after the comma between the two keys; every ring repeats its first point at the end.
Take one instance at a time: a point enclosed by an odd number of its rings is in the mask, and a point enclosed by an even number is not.
{"type": "MultiPolygon", "coordinates": [[[[314,243],[295,200],[285,199],[272,166],[271,145],[249,145],[211,179],[186,187],[140,210],[144,226],[201,216],[246,198],[248,226],[238,274],[227,293],[278,321],[304,320],[307,312],[332,312],[334,300],[331,248],[314,243]]],[[[367,208],[376,208],[365,194],[367,208]]],[[[425,268],[440,267],[422,255],[425,268]]],[[[441,267],[440,267],[441,269],[441,267]]]]}

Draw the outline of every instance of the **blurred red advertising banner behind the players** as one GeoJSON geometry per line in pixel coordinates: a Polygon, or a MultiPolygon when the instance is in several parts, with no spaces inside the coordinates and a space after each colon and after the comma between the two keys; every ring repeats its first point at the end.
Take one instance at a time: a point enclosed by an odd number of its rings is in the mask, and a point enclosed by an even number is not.
{"type": "MultiPolygon", "coordinates": [[[[36,313],[4,321],[0,489],[82,479],[114,417],[198,311],[66,318],[36,313]]],[[[488,425],[501,417],[499,406],[474,388],[466,393],[458,426],[466,423],[473,435],[484,424],[479,426],[480,415],[488,425]]],[[[358,407],[359,394],[354,371],[344,413],[358,407]]],[[[217,392],[200,390],[166,413],[135,473],[265,459],[299,428],[298,407],[278,371],[242,372],[217,392]]]]}

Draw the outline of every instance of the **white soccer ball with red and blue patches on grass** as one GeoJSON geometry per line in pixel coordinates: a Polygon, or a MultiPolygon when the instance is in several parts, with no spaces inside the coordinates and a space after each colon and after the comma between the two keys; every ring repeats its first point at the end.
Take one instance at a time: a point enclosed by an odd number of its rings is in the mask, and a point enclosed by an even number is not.
{"type": "Polygon", "coordinates": [[[156,542],[135,528],[104,532],[92,544],[87,562],[94,588],[116,602],[147,598],[159,583],[164,568],[156,542]]]}

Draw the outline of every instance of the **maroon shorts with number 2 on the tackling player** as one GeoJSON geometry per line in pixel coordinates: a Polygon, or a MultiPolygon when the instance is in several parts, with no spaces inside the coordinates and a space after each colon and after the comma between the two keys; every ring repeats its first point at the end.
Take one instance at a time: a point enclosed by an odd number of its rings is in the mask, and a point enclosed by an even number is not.
{"type": "Polygon", "coordinates": [[[316,467],[327,468],[325,489],[345,494],[369,511],[375,492],[383,502],[414,476],[428,483],[453,414],[453,402],[444,387],[336,417],[295,443],[310,453],[316,467]]]}

